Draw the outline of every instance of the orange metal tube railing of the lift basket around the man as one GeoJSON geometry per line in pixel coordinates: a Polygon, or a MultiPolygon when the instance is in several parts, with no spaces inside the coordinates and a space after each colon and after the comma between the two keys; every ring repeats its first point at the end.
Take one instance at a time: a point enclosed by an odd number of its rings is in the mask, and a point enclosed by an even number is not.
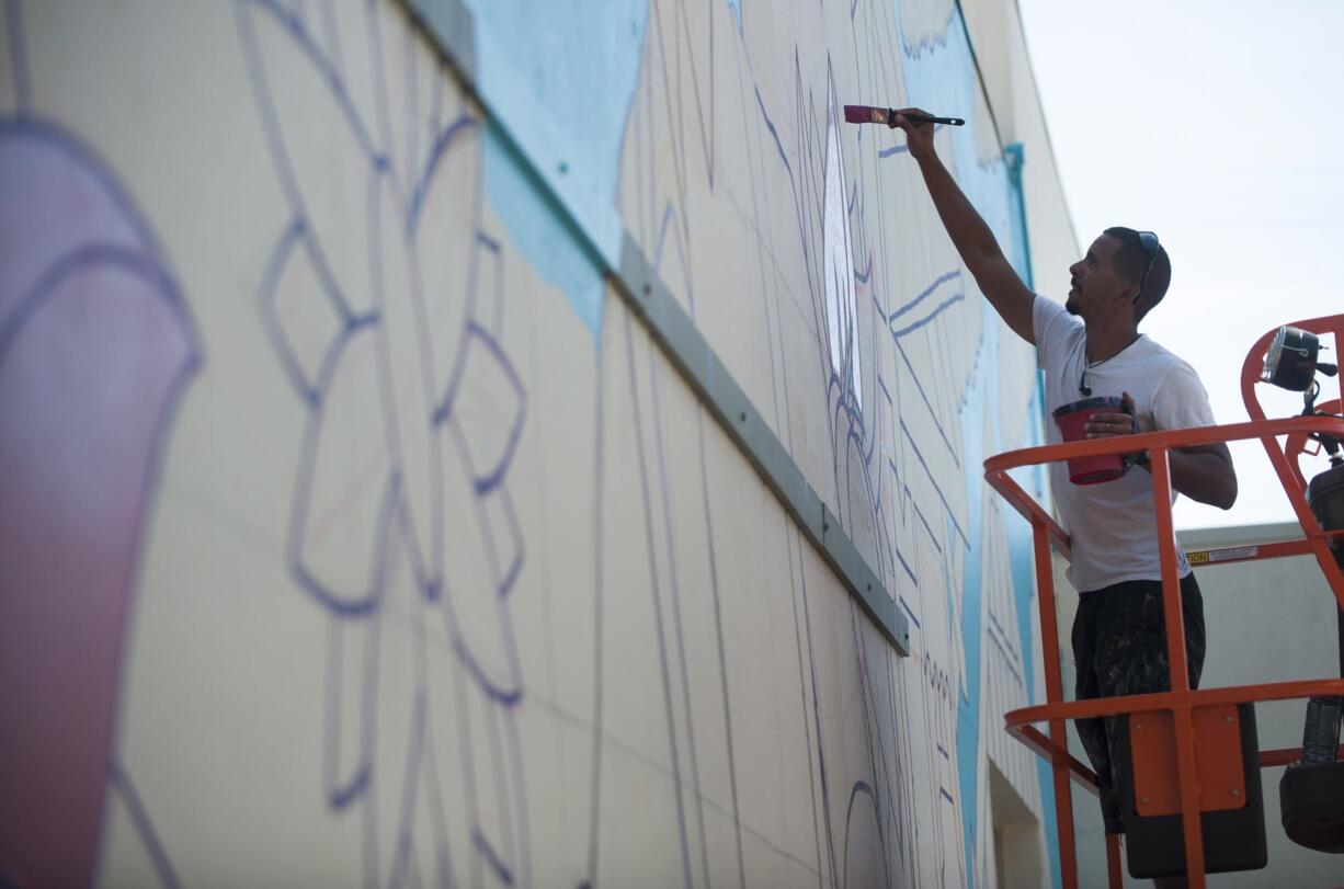
{"type": "MultiPolygon", "coordinates": [[[[1344,316],[1329,320],[1344,324],[1344,316]]],[[[1308,322],[1310,324],[1310,322],[1308,322]]],[[[1305,324],[1302,326],[1306,326],[1305,324]]],[[[1308,328],[1310,329],[1310,328],[1308,328]]],[[[1328,329],[1335,332],[1333,326],[1328,329]]],[[[1344,341],[1344,340],[1340,340],[1344,341]]],[[[1267,345],[1267,337],[1255,348],[1267,345]]],[[[1254,353],[1255,349],[1253,349],[1254,353]]],[[[1247,367],[1250,357],[1247,357],[1247,367]]],[[[1254,385],[1254,381],[1249,384],[1254,385]]],[[[1243,559],[1277,559],[1296,555],[1313,555],[1335,594],[1336,603],[1344,608],[1344,573],[1331,551],[1335,537],[1344,537],[1344,530],[1325,530],[1316,520],[1306,501],[1305,482],[1296,463],[1289,461],[1288,449],[1279,444],[1284,436],[1289,446],[1298,450],[1310,435],[1331,435],[1344,438],[1344,419],[1337,416],[1296,416],[1277,420],[1263,419],[1258,403],[1251,410],[1254,393],[1249,389],[1243,375],[1243,392],[1250,392],[1247,410],[1257,419],[1249,423],[1210,426],[1203,428],[1142,432],[1117,438],[1102,438],[1044,447],[1030,447],[1000,454],[985,461],[985,479],[1019,512],[1032,528],[1032,543],[1036,567],[1036,590],[1040,603],[1042,655],[1044,658],[1046,704],[1012,710],[1005,716],[1011,735],[1050,760],[1054,772],[1056,826],[1059,831],[1060,873],[1064,889],[1078,886],[1078,858],[1074,845],[1074,819],[1070,798],[1070,780],[1097,792],[1095,775],[1073,757],[1067,749],[1064,725],[1068,720],[1117,716],[1141,712],[1168,712],[1172,716],[1176,733],[1176,774],[1180,783],[1180,815],[1184,837],[1185,862],[1189,886],[1203,889],[1204,847],[1200,825],[1199,788],[1196,784],[1195,729],[1192,712],[1195,708],[1216,704],[1242,704],[1253,701],[1281,701],[1308,697],[1344,697],[1344,678],[1304,680],[1294,682],[1274,682],[1266,685],[1246,685],[1222,689],[1192,690],[1185,666],[1185,637],[1183,633],[1167,634],[1168,663],[1171,665],[1172,690],[1156,694],[1133,694],[1111,698],[1093,698],[1066,702],[1059,659],[1059,627],[1055,615],[1054,573],[1051,569],[1051,547],[1066,559],[1070,556],[1068,536],[1054,521],[1050,513],[1036,502],[1009,473],[1019,467],[1036,466],[1086,457],[1103,457],[1148,451],[1153,475],[1153,517],[1159,541],[1159,555],[1163,573],[1163,606],[1168,627],[1184,626],[1181,620],[1180,580],[1176,576],[1177,556],[1172,526],[1172,483],[1168,455],[1172,450],[1200,444],[1226,443],[1259,439],[1284,483],[1284,490],[1293,505],[1302,526],[1301,540],[1262,544],[1255,553],[1243,559]],[[1034,724],[1046,722],[1048,735],[1034,724]]],[[[1296,455],[1296,454],[1294,454],[1296,455]]],[[[1141,470],[1130,470],[1141,471],[1141,470]]],[[[1341,748],[1344,753],[1344,748],[1341,748]]],[[[1265,751],[1259,755],[1261,768],[1284,765],[1301,756],[1300,748],[1265,751]]],[[[1120,842],[1117,837],[1107,838],[1107,859],[1110,885],[1121,886],[1120,842]]]]}

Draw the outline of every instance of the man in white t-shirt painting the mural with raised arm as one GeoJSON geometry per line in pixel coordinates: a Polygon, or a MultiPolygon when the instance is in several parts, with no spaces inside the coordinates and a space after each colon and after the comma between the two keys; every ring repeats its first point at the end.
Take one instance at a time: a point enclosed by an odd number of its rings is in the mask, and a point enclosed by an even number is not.
{"type": "MultiPolygon", "coordinates": [[[[905,109],[909,114],[923,114],[905,109]]],[[[989,227],[938,160],[934,128],[892,121],[906,133],[938,216],[966,269],[1004,322],[1036,346],[1046,376],[1046,407],[1087,396],[1120,396],[1128,414],[1094,414],[1087,438],[1129,435],[1138,430],[1212,426],[1214,415],[1199,377],[1188,364],[1138,333],[1138,322],[1167,293],[1171,261],[1152,232],[1107,228],[1068,269],[1071,287],[1063,306],[1038,297],[1021,282],[989,227]],[[1073,316],[1073,317],[1070,317],[1073,316]],[[1079,324],[1081,320],[1082,322],[1079,324]]],[[[1047,423],[1051,443],[1059,430],[1047,423]]],[[[1203,504],[1227,509],[1236,500],[1236,474],[1226,444],[1191,447],[1169,458],[1172,487],[1203,504]]],[[[1051,465],[1051,483],[1073,565],[1068,579],[1079,592],[1073,645],[1078,698],[1165,692],[1171,689],[1163,620],[1161,567],[1153,530],[1153,482],[1146,461],[1124,477],[1098,485],[1074,485],[1063,463],[1051,465]]],[[[1204,618],[1199,584],[1177,547],[1191,688],[1204,662],[1204,618]]],[[[1109,737],[1114,718],[1079,720],[1101,786],[1106,833],[1121,833],[1109,737]]]]}

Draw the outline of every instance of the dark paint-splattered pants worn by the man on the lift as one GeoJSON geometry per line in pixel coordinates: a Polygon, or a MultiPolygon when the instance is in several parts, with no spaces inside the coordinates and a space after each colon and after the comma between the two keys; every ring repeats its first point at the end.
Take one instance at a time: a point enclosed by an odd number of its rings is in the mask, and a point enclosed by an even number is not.
{"type": "MultiPolygon", "coordinates": [[[[1181,577],[1180,595],[1185,661],[1193,689],[1199,686],[1204,666],[1204,600],[1193,573],[1181,577]]],[[[1129,580],[1082,594],[1073,637],[1078,670],[1075,696],[1079,701],[1171,690],[1160,580],[1129,580]]],[[[1087,759],[1097,771],[1107,834],[1124,833],[1116,787],[1128,775],[1125,769],[1117,769],[1110,756],[1117,721],[1114,716],[1106,716],[1075,722],[1087,759]]]]}

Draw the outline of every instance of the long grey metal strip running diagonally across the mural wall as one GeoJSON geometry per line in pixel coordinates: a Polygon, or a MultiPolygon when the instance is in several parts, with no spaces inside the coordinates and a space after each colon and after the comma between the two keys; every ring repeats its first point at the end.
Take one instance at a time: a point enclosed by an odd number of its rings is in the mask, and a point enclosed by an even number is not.
{"type": "Polygon", "coordinates": [[[849,590],[868,619],[902,657],[910,654],[910,628],[895,599],[879,575],[840,526],[804,477],[802,470],[785,450],[765,418],[755,410],[746,392],[732,379],[723,361],[681,309],[676,297],[649,265],[644,252],[622,232],[620,266],[613,267],[566,207],[563,199],[547,184],[508,132],[504,121],[492,111],[488,97],[476,83],[476,50],[470,12],[461,0],[401,0],[413,20],[438,48],[464,90],[481,106],[495,132],[546,201],[554,207],[585,252],[593,258],[626,306],[645,324],[655,342],[685,380],[691,391],[719,423],[738,450],[774,492],[785,512],[797,522],[825,563],[849,590]]]}

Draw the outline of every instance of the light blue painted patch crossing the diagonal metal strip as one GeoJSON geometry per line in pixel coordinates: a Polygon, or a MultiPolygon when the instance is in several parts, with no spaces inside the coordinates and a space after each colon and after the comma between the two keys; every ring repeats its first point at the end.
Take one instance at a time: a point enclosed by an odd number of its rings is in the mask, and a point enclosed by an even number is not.
{"type": "MultiPolygon", "coordinates": [[[[616,208],[621,142],[634,98],[646,0],[465,0],[476,27],[476,83],[508,138],[487,142],[485,193],[519,248],[575,312],[601,328],[602,286],[581,274],[583,250],[560,246],[563,215],[528,196],[519,154],[554,189],[612,267],[624,226],[616,208]],[[493,144],[493,148],[492,148],[493,144]]],[[[579,232],[570,230],[570,236],[579,232]]]]}

